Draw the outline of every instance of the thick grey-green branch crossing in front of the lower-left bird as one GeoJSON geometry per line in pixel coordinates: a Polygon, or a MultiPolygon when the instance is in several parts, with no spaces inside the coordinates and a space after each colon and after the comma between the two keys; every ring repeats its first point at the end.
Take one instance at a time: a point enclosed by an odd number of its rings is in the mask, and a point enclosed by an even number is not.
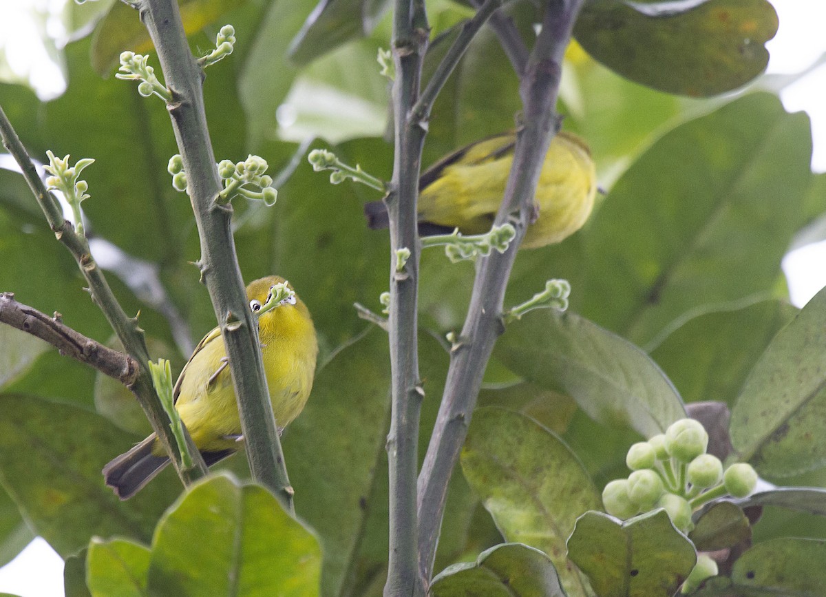
{"type": "Polygon", "coordinates": [[[269,401],[257,322],[247,303],[235,256],[231,232],[233,210],[230,204],[219,200],[222,185],[207,131],[202,65],[189,50],[177,2],[140,0],[135,6],[158,50],[171,95],[169,116],[201,239],[198,265],[229,356],[249,468],[254,479],[273,490],[292,511],[293,491],[269,401]]]}

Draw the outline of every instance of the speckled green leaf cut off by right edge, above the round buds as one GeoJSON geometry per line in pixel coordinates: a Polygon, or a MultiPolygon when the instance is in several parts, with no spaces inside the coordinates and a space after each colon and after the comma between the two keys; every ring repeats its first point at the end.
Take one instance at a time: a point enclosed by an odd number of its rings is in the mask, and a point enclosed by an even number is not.
{"type": "Polygon", "coordinates": [[[734,404],[731,440],[761,475],[789,476],[826,464],[826,289],[784,327],[734,404]]]}

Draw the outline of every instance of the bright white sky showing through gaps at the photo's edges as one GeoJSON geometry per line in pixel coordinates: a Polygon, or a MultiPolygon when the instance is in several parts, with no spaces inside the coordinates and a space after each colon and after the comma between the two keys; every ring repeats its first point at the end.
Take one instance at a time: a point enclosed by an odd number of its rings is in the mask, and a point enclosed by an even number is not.
{"type": "MultiPolygon", "coordinates": [[[[5,48],[9,63],[17,74],[27,76],[40,89],[40,95],[59,94],[64,87],[59,69],[47,51],[31,41],[40,39],[35,21],[26,12],[27,5],[59,14],[65,0],[0,0],[0,49],[5,48]],[[19,50],[19,51],[13,51],[19,50]]],[[[771,0],[780,16],[780,31],[769,42],[769,73],[804,72],[826,54],[826,3],[812,0],[771,0]]],[[[59,18],[47,21],[47,28],[59,31],[59,18]],[[54,29],[53,29],[54,28],[54,29]]],[[[826,64],[812,69],[781,92],[790,112],[805,110],[812,119],[814,155],[812,167],[826,171],[826,64]]],[[[792,303],[802,307],[826,285],[826,241],[791,251],[783,261],[789,278],[792,303]]],[[[63,560],[39,537],[14,561],[0,568],[0,593],[21,597],[62,597],[63,560]]]]}

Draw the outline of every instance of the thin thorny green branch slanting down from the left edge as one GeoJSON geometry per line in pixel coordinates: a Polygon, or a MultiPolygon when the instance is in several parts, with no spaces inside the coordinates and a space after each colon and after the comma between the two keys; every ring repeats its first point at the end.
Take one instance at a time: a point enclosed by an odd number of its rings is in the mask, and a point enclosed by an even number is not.
{"type": "MultiPolygon", "coordinates": [[[[140,406],[146,413],[146,417],[149,418],[152,424],[154,432],[158,434],[160,442],[169,453],[173,466],[175,470],[178,471],[178,476],[184,485],[189,485],[192,481],[207,474],[207,466],[204,464],[197,448],[192,444],[191,439],[188,439],[188,444],[191,447],[191,451],[197,455],[195,456],[195,466],[185,467],[182,464],[178,445],[173,438],[169,426],[169,417],[164,412],[164,407],[161,405],[154,391],[152,375],[147,365],[150,356],[149,351],[146,350],[143,330],[138,327],[136,318],[130,318],[126,315],[120,303],[117,302],[115,295],[112,294],[112,289],[109,288],[106,277],[100,268],[97,267],[97,263],[89,251],[86,237],[83,236],[80,231],[76,231],[71,222],[64,220],[63,210],[60,208],[60,204],[45,188],[43,181],[40,180],[40,176],[37,174],[31,157],[29,157],[29,154],[20,142],[17,132],[12,128],[12,123],[8,121],[6,113],[2,111],[2,108],[0,108],[0,135],[2,135],[3,146],[5,146],[8,152],[17,160],[17,165],[20,166],[31,192],[35,194],[37,203],[40,204],[40,208],[43,210],[52,231],[55,232],[55,236],[69,249],[69,252],[78,262],[78,268],[86,279],[95,303],[97,303],[106,316],[109,325],[112,326],[112,330],[115,331],[121,344],[123,344],[124,350],[137,362],[139,367],[138,374],[134,382],[127,384],[127,387],[135,393],[135,396],[140,402],[140,406]]],[[[75,174],[77,174],[77,170],[75,170],[75,174]]],[[[74,178],[76,179],[76,176],[74,178]]],[[[83,192],[81,192],[81,194],[83,194],[83,192]]]]}

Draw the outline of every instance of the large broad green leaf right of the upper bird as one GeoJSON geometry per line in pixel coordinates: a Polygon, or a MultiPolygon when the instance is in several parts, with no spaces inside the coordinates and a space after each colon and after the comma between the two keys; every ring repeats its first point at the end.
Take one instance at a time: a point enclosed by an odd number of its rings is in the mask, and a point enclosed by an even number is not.
{"type": "Polygon", "coordinates": [[[808,117],[768,93],[662,136],[584,231],[572,308],[645,346],[698,308],[766,297],[800,223],[810,139],[808,117]]]}

